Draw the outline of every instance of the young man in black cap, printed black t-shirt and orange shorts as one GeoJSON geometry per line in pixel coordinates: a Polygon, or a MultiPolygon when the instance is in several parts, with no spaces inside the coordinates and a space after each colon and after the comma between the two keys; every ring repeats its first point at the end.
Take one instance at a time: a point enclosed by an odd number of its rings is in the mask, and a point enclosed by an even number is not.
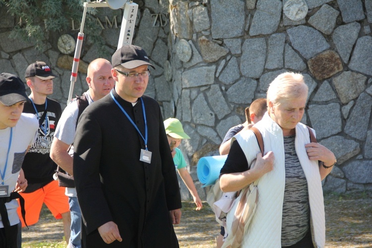
{"type": "MultiPolygon", "coordinates": [[[[39,120],[36,142],[31,146],[22,164],[28,186],[21,193],[25,199],[27,225],[39,221],[43,203],[47,205],[55,218],[63,220],[63,231],[66,242],[70,237],[70,212],[68,197],[64,188],[53,179],[57,165],[49,157],[54,132],[60,120],[61,105],[48,95],[53,93],[52,69],[45,62],[31,63],[25,72],[27,86],[31,89],[30,103],[26,103],[23,113],[30,113],[39,120]]],[[[20,209],[18,208],[20,216],[20,209]]],[[[22,221],[22,227],[25,224],[22,221]]]]}

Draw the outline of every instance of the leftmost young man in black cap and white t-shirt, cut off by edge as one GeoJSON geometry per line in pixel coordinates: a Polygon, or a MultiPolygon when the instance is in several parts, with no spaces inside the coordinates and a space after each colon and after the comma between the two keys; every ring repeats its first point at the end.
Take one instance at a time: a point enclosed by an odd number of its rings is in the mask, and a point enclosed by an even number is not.
{"type": "MultiPolygon", "coordinates": [[[[15,75],[0,74],[0,247],[17,248],[17,198],[27,186],[19,174],[23,158],[35,140],[36,118],[22,114],[28,97],[15,75]]],[[[21,205],[23,199],[20,200],[21,205]]],[[[23,215],[24,216],[24,215],[23,215]]]]}

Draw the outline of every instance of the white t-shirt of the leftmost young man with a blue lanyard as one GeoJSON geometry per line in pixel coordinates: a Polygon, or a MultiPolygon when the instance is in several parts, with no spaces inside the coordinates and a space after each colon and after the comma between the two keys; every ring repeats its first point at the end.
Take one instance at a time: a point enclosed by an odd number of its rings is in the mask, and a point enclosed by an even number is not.
{"type": "MultiPolygon", "coordinates": [[[[0,129],[0,170],[4,174],[6,155],[8,154],[10,127],[0,129]]],[[[36,133],[39,129],[39,122],[33,114],[22,114],[18,123],[12,128],[11,145],[8,154],[8,162],[6,166],[4,185],[9,186],[9,192],[15,189],[19,171],[22,167],[22,162],[26,154],[28,146],[32,145],[36,139],[36,133]]],[[[0,181],[1,182],[1,181],[0,181]]],[[[0,184],[1,185],[1,184],[0,184]]],[[[8,212],[10,225],[13,226],[19,223],[17,215],[17,200],[12,200],[5,203],[8,212]]],[[[0,216],[0,228],[4,225],[0,216]]]]}

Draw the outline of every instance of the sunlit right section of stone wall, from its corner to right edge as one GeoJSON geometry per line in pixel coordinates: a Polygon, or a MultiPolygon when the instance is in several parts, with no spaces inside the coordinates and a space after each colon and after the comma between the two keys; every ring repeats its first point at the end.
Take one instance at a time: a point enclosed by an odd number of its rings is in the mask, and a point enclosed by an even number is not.
{"type": "Polygon", "coordinates": [[[197,158],[218,154],[226,131],[244,122],[244,108],[265,97],[278,74],[295,71],[309,86],[302,122],[338,160],[324,191],[372,189],[371,0],[170,6],[172,100],[191,137],[183,141],[191,172],[197,158]]]}

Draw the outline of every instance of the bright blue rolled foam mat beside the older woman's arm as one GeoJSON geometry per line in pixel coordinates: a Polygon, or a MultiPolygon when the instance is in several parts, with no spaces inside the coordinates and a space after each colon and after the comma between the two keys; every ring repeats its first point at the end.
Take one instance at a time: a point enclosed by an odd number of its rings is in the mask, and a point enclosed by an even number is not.
{"type": "Polygon", "coordinates": [[[213,185],[225,164],[227,155],[202,157],[197,162],[197,177],[202,187],[213,185]]]}

